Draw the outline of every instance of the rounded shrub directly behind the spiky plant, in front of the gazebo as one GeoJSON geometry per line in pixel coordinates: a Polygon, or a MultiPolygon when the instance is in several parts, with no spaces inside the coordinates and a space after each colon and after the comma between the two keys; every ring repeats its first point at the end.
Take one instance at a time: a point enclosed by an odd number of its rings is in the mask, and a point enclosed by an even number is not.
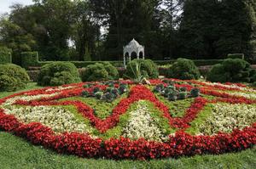
{"type": "Polygon", "coordinates": [[[141,74],[148,78],[158,78],[159,71],[157,65],[151,59],[133,59],[128,63],[127,68],[125,70],[124,77],[125,78],[136,78],[134,75],[136,71],[136,66],[140,66],[141,74]]]}

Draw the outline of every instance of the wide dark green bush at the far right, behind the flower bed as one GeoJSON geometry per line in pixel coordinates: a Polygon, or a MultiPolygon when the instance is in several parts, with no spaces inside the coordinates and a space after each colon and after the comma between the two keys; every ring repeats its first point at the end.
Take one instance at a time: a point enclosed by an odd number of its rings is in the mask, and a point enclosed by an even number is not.
{"type": "Polygon", "coordinates": [[[255,70],[243,59],[225,59],[222,64],[213,65],[207,75],[211,82],[253,82],[255,70]]]}

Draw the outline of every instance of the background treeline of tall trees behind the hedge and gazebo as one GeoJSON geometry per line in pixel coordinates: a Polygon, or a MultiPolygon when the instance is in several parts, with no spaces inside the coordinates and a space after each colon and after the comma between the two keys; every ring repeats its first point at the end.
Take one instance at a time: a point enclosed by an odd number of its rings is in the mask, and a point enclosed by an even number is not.
{"type": "Polygon", "coordinates": [[[119,60],[134,37],[148,59],[255,58],[255,0],[34,0],[0,19],[0,48],[40,60],[119,60]]]}

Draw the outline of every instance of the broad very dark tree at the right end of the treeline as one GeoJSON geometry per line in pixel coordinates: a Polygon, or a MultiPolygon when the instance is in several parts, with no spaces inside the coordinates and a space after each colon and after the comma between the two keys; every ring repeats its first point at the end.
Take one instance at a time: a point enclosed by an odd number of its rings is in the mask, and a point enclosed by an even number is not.
{"type": "Polygon", "coordinates": [[[251,0],[186,0],[180,28],[184,56],[224,58],[230,53],[248,56],[253,34],[251,0]]]}

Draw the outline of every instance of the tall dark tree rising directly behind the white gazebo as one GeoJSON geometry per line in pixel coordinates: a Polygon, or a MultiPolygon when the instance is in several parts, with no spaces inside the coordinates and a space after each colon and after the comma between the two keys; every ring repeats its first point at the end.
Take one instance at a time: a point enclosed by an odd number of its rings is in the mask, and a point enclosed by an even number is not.
{"type": "Polygon", "coordinates": [[[108,59],[121,59],[123,46],[133,37],[146,47],[150,43],[148,39],[154,31],[152,29],[154,12],[159,6],[159,0],[91,0],[90,2],[108,26],[104,43],[108,59]]]}

